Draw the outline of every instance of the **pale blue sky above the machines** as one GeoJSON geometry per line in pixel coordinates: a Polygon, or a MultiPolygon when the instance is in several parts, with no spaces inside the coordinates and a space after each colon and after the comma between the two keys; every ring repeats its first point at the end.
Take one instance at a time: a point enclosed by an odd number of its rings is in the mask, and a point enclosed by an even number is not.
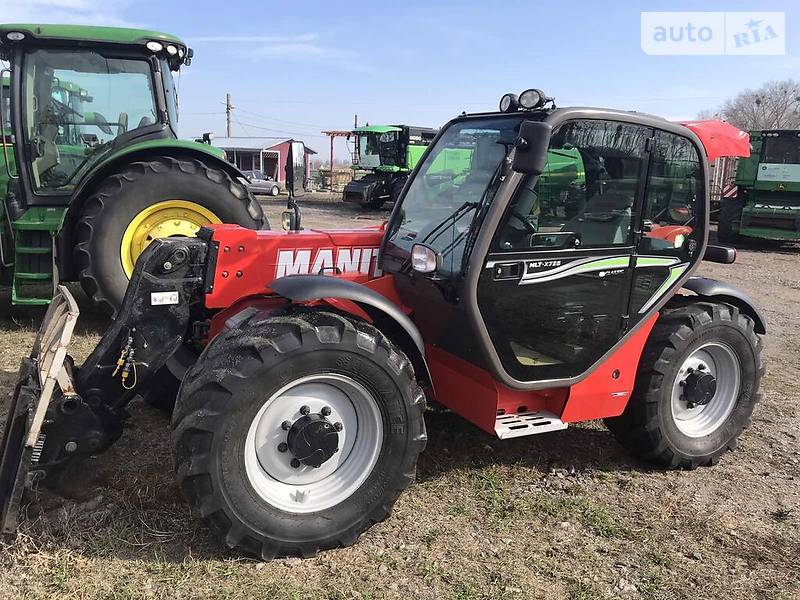
{"type": "MultiPolygon", "coordinates": [[[[696,2],[0,0],[0,20],[139,26],[195,48],[180,81],[181,134],[305,139],[321,129],[394,122],[438,126],[539,87],[559,105],[692,118],[747,87],[798,78],[800,4],[727,0],[705,11],[785,11],[786,56],[649,56],[641,11],[696,2]]],[[[337,146],[344,154],[344,147],[337,146]]],[[[344,158],[344,156],[342,156],[344,158]]]]}

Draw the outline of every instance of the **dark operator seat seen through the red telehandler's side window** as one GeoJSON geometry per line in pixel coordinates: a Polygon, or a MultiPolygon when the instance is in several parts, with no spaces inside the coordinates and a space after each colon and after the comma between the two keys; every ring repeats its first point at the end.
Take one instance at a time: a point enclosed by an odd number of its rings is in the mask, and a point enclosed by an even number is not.
{"type": "Polygon", "coordinates": [[[607,246],[623,244],[631,228],[633,193],[610,183],[603,193],[597,193],[583,210],[567,221],[561,231],[577,234],[581,244],[607,246]]]}

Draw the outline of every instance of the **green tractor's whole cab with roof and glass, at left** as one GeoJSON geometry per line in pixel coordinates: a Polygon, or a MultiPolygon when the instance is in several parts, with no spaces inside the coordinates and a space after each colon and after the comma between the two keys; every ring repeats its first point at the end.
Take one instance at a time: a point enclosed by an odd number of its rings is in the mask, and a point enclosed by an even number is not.
{"type": "Polygon", "coordinates": [[[191,50],[161,33],[102,35],[100,29],[0,28],[0,52],[13,65],[4,75],[12,83],[10,121],[21,142],[19,176],[35,202],[67,203],[83,175],[114,149],[177,137],[172,72],[190,60],[191,50]]]}

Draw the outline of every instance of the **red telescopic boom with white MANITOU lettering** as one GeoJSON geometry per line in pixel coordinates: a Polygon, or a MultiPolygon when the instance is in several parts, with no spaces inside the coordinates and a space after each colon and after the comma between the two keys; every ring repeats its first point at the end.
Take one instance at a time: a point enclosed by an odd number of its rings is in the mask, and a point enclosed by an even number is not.
{"type": "Polygon", "coordinates": [[[217,243],[213,288],[208,308],[225,308],[248,296],[270,292],[269,284],[285,275],[346,277],[364,283],[379,277],[378,250],[383,227],[253,231],[238,225],[213,226],[217,243]]]}

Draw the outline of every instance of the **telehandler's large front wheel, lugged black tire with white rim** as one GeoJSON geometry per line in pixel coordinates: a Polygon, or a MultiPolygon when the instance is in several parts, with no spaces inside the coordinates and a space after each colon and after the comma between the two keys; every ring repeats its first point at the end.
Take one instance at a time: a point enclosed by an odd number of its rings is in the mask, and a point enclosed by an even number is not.
{"type": "Polygon", "coordinates": [[[184,378],[178,481],[230,548],[268,560],[348,546],[414,481],[424,409],[411,363],[373,326],[255,315],[184,378]]]}

